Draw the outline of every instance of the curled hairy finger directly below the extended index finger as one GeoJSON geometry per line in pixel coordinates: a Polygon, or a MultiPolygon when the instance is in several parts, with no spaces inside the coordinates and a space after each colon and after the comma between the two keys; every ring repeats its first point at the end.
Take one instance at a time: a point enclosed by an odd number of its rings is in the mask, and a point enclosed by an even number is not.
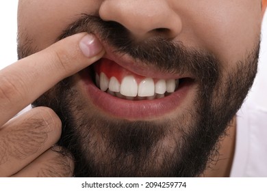
{"type": "Polygon", "coordinates": [[[9,123],[1,134],[0,145],[5,149],[5,152],[0,149],[1,163],[6,162],[7,158],[25,159],[58,140],[60,127],[55,125],[58,119],[51,109],[32,109],[29,115],[9,123]]]}

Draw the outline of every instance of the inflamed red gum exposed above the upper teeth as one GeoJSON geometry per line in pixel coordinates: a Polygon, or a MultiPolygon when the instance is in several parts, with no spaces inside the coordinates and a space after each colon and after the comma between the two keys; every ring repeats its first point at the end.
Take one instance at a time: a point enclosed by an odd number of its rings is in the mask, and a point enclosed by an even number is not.
{"type": "Polygon", "coordinates": [[[144,76],[140,76],[130,72],[129,70],[126,70],[110,59],[103,58],[97,61],[97,64],[94,65],[94,71],[97,72],[99,76],[101,72],[103,72],[107,78],[116,77],[119,83],[121,83],[125,76],[133,76],[138,84],[145,78],[144,76]]]}

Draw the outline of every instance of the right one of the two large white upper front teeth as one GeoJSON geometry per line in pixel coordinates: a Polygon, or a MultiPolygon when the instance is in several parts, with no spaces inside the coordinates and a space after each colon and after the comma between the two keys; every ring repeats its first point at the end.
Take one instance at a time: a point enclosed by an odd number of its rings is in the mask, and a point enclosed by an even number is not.
{"type": "Polygon", "coordinates": [[[139,84],[138,87],[138,96],[140,97],[149,97],[154,95],[155,93],[155,85],[154,80],[152,78],[145,78],[139,84]]]}

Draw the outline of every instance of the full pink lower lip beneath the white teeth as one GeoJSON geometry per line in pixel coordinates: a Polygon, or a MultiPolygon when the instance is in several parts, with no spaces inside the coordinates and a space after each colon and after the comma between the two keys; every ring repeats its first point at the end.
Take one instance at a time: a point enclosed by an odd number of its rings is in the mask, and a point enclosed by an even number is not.
{"type": "Polygon", "coordinates": [[[92,103],[102,111],[113,117],[120,119],[152,119],[166,115],[177,109],[186,95],[192,83],[183,83],[179,89],[165,98],[155,100],[123,100],[116,98],[109,93],[101,91],[90,77],[90,72],[86,69],[80,73],[81,80],[84,82],[84,88],[88,98],[92,103]]]}

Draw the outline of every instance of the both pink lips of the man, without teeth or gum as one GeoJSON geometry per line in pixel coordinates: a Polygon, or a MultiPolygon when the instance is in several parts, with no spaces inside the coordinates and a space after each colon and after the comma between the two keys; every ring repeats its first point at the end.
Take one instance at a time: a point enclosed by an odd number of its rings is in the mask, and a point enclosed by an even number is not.
{"type": "MultiPolygon", "coordinates": [[[[128,55],[116,55],[116,52],[105,43],[103,43],[103,46],[106,50],[104,58],[115,61],[118,65],[134,74],[158,79],[190,78],[190,76],[179,76],[178,74],[163,74],[155,70],[155,68],[144,66],[143,63],[133,61],[128,55]]],[[[191,87],[193,85],[192,82],[183,83],[179,85],[179,89],[177,89],[175,93],[161,99],[138,101],[123,100],[101,91],[94,85],[90,76],[90,71],[88,70],[90,69],[83,70],[79,72],[79,74],[81,80],[84,82],[84,89],[86,90],[89,100],[104,113],[120,119],[151,119],[170,113],[178,108],[185,100],[188,91],[192,89],[191,87]]]]}

